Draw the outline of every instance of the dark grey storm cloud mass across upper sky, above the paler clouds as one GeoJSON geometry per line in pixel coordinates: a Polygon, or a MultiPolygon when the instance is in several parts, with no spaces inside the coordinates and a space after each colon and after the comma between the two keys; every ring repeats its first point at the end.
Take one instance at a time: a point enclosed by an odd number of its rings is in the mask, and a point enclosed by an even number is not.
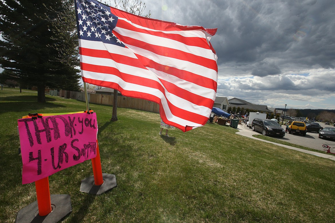
{"type": "Polygon", "coordinates": [[[249,66],[249,73],[262,77],[280,73],[287,63],[335,67],[333,0],[169,1],[165,11],[163,6],[152,4],[151,17],[218,28],[211,40],[218,66],[249,66]],[[277,67],[257,68],[269,58],[278,60],[277,67]]]}

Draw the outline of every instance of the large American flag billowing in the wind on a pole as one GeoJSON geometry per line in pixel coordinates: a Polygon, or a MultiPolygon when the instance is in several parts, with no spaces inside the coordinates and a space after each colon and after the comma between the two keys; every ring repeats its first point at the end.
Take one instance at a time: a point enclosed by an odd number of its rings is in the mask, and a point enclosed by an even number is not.
{"type": "Polygon", "coordinates": [[[161,119],[182,131],[203,126],[217,88],[216,29],[133,15],[76,0],[80,69],[86,83],[159,104],[161,119]]]}

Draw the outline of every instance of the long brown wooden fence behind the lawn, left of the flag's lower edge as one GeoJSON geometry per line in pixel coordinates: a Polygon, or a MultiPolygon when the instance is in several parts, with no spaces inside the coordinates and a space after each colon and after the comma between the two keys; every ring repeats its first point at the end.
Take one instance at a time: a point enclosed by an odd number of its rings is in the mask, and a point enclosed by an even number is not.
{"type": "MultiPolygon", "coordinates": [[[[88,103],[102,104],[102,105],[113,105],[113,95],[103,94],[87,94],[88,103]]],[[[56,94],[55,94],[56,96],[56,94]]],[[[71,98],[78,101],[85,101],[84,92],[75,91],[63,91],[59,92],[60,97],[71,98]]],[[[143,111],[159,113],[159,105],[152,101],[147,101],[139,98],[130,98],[124,96],[118,96],[118,108],[131,108],[143,111]]]]}

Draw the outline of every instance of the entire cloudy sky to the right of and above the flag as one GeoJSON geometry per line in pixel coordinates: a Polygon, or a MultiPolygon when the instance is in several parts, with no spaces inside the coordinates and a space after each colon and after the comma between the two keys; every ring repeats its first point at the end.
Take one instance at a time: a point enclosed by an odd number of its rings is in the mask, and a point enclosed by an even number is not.
{"type": "Polygon", "coordinates": [[[217,96],[335,109],[334,0],[143,0],[150,18],[217,28],[217,96]]]}

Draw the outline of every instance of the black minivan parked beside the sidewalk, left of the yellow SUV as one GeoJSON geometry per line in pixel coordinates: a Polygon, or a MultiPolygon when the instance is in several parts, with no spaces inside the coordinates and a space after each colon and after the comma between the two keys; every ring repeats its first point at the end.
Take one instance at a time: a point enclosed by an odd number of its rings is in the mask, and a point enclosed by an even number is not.
{"type": "Polygon", "coordinates": [[[285,129],[280,126],[281,125],[279,125],[278,122],[274,120],[255,118],[252,121],[251,129],[253,131],[259,131],[263,135],[284,137],[285,129]]]}

